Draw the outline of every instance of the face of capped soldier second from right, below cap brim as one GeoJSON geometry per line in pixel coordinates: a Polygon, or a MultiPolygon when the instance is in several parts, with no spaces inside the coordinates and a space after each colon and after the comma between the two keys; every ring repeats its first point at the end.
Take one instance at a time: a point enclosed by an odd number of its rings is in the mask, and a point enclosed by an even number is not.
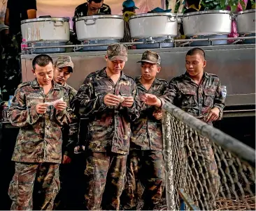
{"type": "Polygon", "coordinates": [[[145,81],[151,81],[155,79],[157,73],[159,73],[161,68],[157,64],[143,62],[141,63],[141,76],[145,81]]]}

